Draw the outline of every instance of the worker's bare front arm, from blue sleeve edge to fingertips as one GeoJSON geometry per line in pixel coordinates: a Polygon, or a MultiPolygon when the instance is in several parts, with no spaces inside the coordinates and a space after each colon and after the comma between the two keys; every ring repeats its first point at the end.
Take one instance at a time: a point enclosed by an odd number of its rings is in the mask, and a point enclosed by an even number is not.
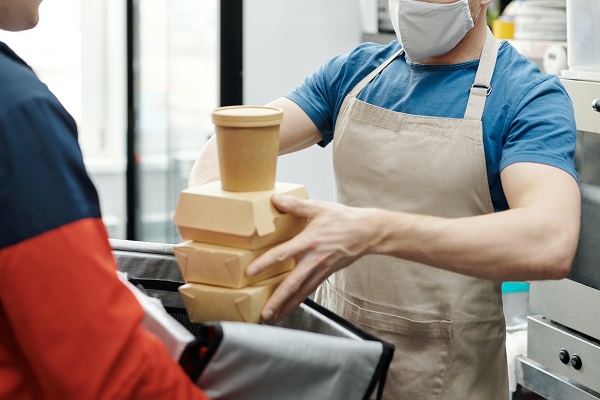
{"type": "Polygon", "coordinates": [[[566,172],[533,163],[501,174],[510,210],[445,219],[274,196],[306,229],[256,259],[248,273],[294,257],[296,268],[267,302],[263,317],[283,316],[333,272],[365,254],[385,254],[491,280],[559,279],[579,238],[580,194],[566,172]]]}

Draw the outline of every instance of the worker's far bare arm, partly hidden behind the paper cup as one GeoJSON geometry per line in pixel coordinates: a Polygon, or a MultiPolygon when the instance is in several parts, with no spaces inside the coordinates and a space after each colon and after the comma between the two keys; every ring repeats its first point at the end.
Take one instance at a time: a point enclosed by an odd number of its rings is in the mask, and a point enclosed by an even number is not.
{"type": "MultiPolygon", "coordinates": [[[[281,97],[267,106],[283,110],[283,122],[279,134],[280,155],[305,149],[321,140],[321,134],[315,124],[293,101],[281,97]]],[[[213,135],[206,142],[194,162],[188,181],[189,187],[219,180],[216,139],[216,135],[213,135]]]]}

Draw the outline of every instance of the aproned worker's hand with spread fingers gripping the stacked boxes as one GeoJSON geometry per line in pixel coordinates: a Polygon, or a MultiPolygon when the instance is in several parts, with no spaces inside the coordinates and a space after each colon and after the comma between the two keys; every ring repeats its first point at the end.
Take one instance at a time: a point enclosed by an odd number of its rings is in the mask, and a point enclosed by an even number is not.
{"type": "Polygon", "coordinates": [[[329,275],[368,253],[379,240],[378,211],[341,204],[273,195],[281,212],[306,219],[306,228],[296,237],[265,252],[247,268],[254,275],[270,266],[294,258],[296,267],[267,301],[264,319],[279,319],[298,306],[329,275]]]}

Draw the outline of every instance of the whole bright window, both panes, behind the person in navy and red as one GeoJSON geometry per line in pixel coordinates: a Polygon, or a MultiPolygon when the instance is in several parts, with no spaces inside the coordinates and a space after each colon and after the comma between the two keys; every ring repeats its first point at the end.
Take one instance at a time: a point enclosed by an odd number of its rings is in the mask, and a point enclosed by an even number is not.
{"type": "MultiPolygon", "coordinates": [[[[217,0],[138,0],[136,238],[179,240],[172,215],[218,104],[217,0]]],[[[25,32],[0,31],[75,118],[113,238],[126,237],[127,2],[52,0],[25,32]]]]}

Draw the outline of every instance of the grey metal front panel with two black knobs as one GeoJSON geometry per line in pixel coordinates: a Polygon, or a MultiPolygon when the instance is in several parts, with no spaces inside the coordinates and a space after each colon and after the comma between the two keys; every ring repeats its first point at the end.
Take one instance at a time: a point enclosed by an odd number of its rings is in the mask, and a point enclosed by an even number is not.
{"type": "Polygon", "coordinates": [[[541,316],[531,316],[528,322],[527,357],[600,392],[600,342],[541,316]],[[566,363],[559,358],[561,350],[566,363]],[[572,357],[581,360],[579,369],[571,364],[572,357]]]}

